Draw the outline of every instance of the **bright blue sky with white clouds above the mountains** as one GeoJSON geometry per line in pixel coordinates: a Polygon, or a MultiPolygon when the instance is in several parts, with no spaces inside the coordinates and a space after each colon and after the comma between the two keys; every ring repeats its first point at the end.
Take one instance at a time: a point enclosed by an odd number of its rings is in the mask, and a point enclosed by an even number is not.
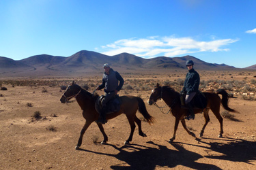
{"type": "Polygon", "coordinates": [[[0,56],[80,50],[256,64],[253,0],[1,0],[0,56]]]}

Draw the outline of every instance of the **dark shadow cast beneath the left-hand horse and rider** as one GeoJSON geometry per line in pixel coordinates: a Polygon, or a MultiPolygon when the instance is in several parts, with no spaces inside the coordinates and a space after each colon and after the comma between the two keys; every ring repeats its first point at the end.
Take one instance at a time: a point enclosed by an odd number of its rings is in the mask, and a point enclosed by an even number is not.
{"type": "Polygon", "coordinates": [[[126,145],[118,148],[115,145],[108,144],[119,151],[118,154],[107,154],[94,152],[90,150],[79,149],[85,152],[92,152],[95,154],[102,154],[107,156],[113,156],[118,160],[124,161],[125,163],[111,165],[111,169],[118,170],[154,170],[156,167],[173,168],[177,165],[189,167],[191,169],[221,169],[216,165],[197,163],[195,162],[199,158],[203,158],[200,154],[186,150],[182,144],[173,143],[173,147],[176,150],[171,150],[166,146],[156,144],[152,141],[147,143],[152,144],[152,147],[141,146],[137,144],[126,145]],[[127,166],[127,164],[129,166],[127,166]]]}

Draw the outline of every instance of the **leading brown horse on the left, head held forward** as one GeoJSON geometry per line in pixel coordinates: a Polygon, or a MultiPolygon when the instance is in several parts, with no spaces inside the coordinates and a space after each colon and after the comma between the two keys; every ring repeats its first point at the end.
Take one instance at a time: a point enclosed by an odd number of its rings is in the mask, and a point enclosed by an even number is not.
{"type": "MultiPolygon", "coordinates": [[[[98,112],[96,112],[96,109],[95,109],[95,102],[98,99],[98,95],[91,94],[87,90],[81,88],[81,86],[75,84],[73,81],[72,84],[70,86],[68,86],[68,88],[62,95],[62,97],[60,99],[61,103],[68,102],[70,99],[72,99],[72,97],[74,97],[76,99],[77,103],[79,103],[79,106],[83,110],[83,118],[85,118],[85,120],[86,120],[85,125],[83,126],[83,129],[81,130],[81,135],[79,137],[79,141],[76,145],[76,150],[77,150],[77,149],[79,149],[79,147],[82,144],[83,135],[84,135],[85,131],[87,130],[87,128],[89,127],[89,125],[92,122],[98,120],[98,118],[99,118],[99,114],[98,114],[98,112]]],[[[144,118],[150,124],[152,122],[154,122],[154,118],[152,118],[152,116],[150,116],[150,114],[148,114],[143,99],[141,99],[140,97],[133,97],[133,96],[122,96],[122,97],[120,97],[120,99],[122,101],[122,105],[120,106],[119,112],[107,114],[106,120],[115,118],[116,116],[119,116],[120,114],[123,114],[123,113],[126,114],[126,117],[128,118],[128,121],[130,123],[131,131],[130,131],[130,136],[126,140],[125,144],[132,141],[132,136],[133,136],[134,129],[135,129],[134,122],[136,122],[137,125],[139,126],[139,135],[141,135],[142,137],[146,137],[147,135],[145,135],[145,133],[143,133],[141,130],[141,120],[139,120],[139,118],[137,118],[136,112],[139,109],[139,112],[141,112],[141,114],[144,116],[144,118]]],[[[106,133],[104,132],[102,124],[98,124],[98,127],[104,137],[104,140],[102,141],[102,143],[106,143],[106,141],[108,141],[108,137],[106,136],[106,133]]]]}

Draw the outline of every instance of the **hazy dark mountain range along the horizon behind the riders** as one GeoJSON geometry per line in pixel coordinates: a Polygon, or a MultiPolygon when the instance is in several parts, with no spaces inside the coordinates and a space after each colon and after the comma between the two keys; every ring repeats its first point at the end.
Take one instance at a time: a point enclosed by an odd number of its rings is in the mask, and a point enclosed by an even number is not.
{"type": "MultiPolygon", "coordinates": [[[[72,75],[80,73],[102,72],[102,65],[109,63],[111,67],[118,67],[119,71],[147,71],[152,69],[186,69],[186,61],[193,60],[197,69],[229,70],[236,69],[225,64],[207,63],[194,56],[165,57],[145,59],[133,54],[122,53],[107,56],[98,52],[81,50],[72,56],[51,56],[48,54],[30,56],[14,61],[0,56],[0,75],[6,76],[40,76],[40,75],[72,75]]],[[[256,65],[245,69],[256,69],[256,65]]]]}

